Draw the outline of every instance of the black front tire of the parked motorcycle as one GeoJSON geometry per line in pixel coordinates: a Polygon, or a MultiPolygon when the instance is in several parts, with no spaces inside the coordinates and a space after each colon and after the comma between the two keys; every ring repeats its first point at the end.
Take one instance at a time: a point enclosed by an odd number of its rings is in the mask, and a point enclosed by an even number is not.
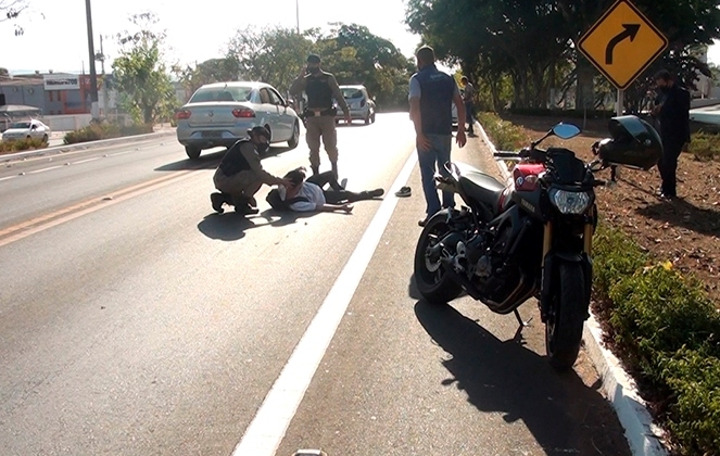
{"type": "Polygon", "coordinates": [[[578,359],[590,297],[580,263],[561,262],[551,315],[545,322],[545,351],[551,366],[568,370],[578,359]]]}

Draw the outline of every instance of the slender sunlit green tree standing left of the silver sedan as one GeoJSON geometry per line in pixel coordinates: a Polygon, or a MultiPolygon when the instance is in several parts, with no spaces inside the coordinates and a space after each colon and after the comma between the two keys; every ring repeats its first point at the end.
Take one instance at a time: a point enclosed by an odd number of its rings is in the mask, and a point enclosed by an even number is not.
{"type": "Polygon", "coordinates": [[[165,33],[153,30],[157,17],[152,13],[136,14],[130,22],[134,30],[118,34],[122,50],[113,62],[121,105],[136,122],[169,119],[179,103],[160,49],[165,33]]]}

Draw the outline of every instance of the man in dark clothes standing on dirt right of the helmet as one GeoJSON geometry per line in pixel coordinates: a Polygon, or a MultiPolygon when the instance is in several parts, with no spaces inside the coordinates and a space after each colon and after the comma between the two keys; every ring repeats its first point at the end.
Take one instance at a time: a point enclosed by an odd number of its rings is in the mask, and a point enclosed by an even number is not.
{"type": "Polygon", "coordinates": [[[660,123],[662,139],[662,155],[657,163],[662,179],[660,198],[672,199],[678,197],[678,157],[685,143],[690,142],[690,92],[680,87],[667,69],[659,71],[654,79],[659,91],[659,104],[653,110],[653,115],[660,123]]]}

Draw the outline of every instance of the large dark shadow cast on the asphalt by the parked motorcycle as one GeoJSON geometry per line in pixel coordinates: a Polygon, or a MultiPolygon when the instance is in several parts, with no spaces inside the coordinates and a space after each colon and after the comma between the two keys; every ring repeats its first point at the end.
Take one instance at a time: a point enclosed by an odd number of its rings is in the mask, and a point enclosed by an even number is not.
{"type": "Polygon", "coordinates": [[[441,363],[451,376],[441,384],[465,391],[478,410],[521,420],[547,455],[630,454],[599,381],[589,388],[574,370],[556,372],[544,356],[498,340],[452,306],[420,300],[415,314],[450,355],[441,363]]]}

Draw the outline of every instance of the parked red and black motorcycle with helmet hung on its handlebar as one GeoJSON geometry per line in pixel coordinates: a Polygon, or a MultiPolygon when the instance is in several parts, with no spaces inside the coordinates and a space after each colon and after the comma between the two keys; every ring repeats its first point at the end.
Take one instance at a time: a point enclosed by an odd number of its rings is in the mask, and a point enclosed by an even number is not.
{"type": "Polygon", "coordinates": [[[649,169],[662,145],[657,131],[636,116],[614,117],[611,138],[593,145],[584,163],[565,148],[540,149],[546,138],[570,139],[580,129],[554,126],[520,152],[496,157],[518,161],[505,186],[470,166],[445,164],[438,187],[460,195],[459,211],[445,208],[425,226],[415,251],[415,281],[426,301],[445,304],[463,290],[497,314],[515,313],[535,297],[545,324],[553,367],[574,364],[592,287],[592,238],[597,224],[595,187],[609,183],[595,173],[616,167],[649,169]]]}

